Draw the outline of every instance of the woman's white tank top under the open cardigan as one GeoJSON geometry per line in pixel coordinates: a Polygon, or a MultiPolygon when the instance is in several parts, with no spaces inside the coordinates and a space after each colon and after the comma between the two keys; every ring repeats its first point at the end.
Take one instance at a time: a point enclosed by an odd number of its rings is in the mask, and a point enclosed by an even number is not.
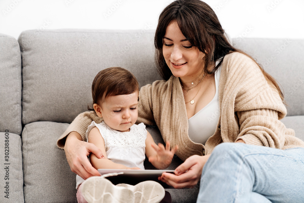
{"type": "MultiPolygon", "coordinates": [[[[216,61],[216,65],[219,60],[216,61]]],[[[189,138],[196,143],[205,145],[207,139],[211,137],[217,127],[219,121],[219,77],[221,74],[222,65],[216,70],[214,79],[216,92],[213,99],[202,108],[199,112],[188,119],[188,134],[189,138]]]]}

